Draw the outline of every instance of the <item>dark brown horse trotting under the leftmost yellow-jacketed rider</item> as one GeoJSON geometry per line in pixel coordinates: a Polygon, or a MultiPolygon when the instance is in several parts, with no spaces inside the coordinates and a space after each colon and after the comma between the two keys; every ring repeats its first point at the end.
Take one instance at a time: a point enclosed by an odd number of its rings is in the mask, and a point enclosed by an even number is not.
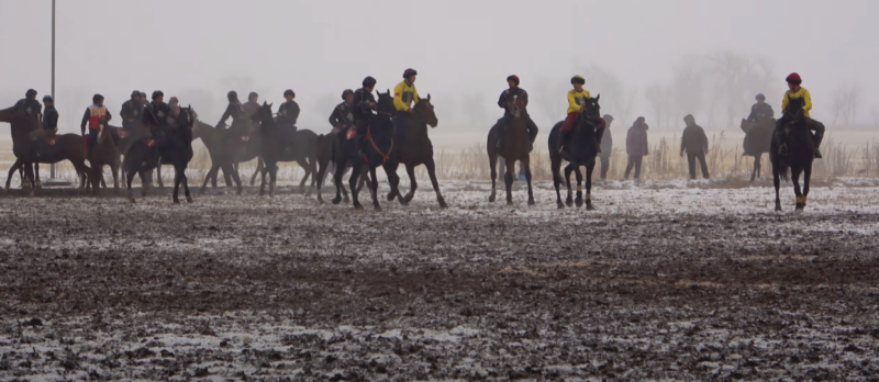
{"type": "MultiPolygon", "coordinates": [[[[415,167],[424,165],[427,168],[427,176],[431,178],[433,190],[436,192],[436,201],[439,203],[441,209],[448,207],[443,193],[439,191],[439,183],[436,181],[436,164],[433,160],[433,144],[427,136],[427,126],[436,127],[438,121],[434,112],[433,104],[431,103],[431,94],[427,98],[422,98],[412,106],[410,114],[397,115],[398,119],[405,119],[405,128],[399,128],[396,132],[394,147],[396,156],[399,162],[405,165],[405,172],[409,175],[410,189],[409,193],[400,198],[400,204],[407,205],[412,201],[418,189],[418,181],[415,180],[415,167]]],[[[397,168],[391,169],[393,172],[397,168]]],[[[388,200],[392,200],[393,195],[388,194],[388,200]]]]}

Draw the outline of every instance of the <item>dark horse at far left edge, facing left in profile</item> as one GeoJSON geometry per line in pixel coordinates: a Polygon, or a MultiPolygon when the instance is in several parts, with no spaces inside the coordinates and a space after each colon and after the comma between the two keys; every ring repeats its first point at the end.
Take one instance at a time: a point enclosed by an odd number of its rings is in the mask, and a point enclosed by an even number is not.
{"type": "Polygon", "coordinates": [[[85,188],[86,177],[89,171],[82,153],[82,137],[77,134],[58,134],[51,139],[40,127],[40,117],[36,114],[24,112],[23,105],[12,106],[0,111],[0,122],[10,124],[12,133],[12,153],[15,164],[9,169],[5,188],[9,189],[12,175],[24,169],[24,176],[31,186],[31,193],[36,189],[34,176],[35,164],[56,164],[70,160],[80,179],[80,190],[85,188]],[[42,141],[42,142],[37,142],[42,141]],[[37,147],[44,148],[37,155],[37,147]]]}

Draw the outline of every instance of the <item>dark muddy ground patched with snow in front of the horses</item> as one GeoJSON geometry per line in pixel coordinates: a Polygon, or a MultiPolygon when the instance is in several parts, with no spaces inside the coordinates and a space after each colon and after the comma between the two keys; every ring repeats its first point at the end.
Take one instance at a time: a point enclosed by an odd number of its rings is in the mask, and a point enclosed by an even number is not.
{"type": "MultiPolygon", "coordinates": [[[[0,380],[879,380],[879,188],[0,195],[0,380]]],[[[728,184],[726,184],[728,186],[728,184]]]]}

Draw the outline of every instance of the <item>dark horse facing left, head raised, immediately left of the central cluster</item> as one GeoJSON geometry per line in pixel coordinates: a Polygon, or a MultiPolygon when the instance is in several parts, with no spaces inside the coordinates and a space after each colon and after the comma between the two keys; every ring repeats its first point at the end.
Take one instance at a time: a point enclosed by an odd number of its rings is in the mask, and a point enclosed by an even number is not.
{"type": "MultiPolygon", "coordinates": [[[[318,134],[310,130],[297,130],[292,134],[283,131],[272,117],[271,104],[266,102],[263,102],[252,119],[254,122],[259,122],[259,134],[263,139],[259,158],[265,166],[262,172],[259,194],[265,194],[266,175],[268,175],[269,196],[275,196],[279,161],[296,161],[305,170],[305,175],[299,183],[300,191],[305,192],[304,188],[309,176],[311,176],[311,187],[313,188],[318,182],[318,134]]],[[[305,195],[309,193],[311,193],[311,189],[305,192],[305,195]]]]}

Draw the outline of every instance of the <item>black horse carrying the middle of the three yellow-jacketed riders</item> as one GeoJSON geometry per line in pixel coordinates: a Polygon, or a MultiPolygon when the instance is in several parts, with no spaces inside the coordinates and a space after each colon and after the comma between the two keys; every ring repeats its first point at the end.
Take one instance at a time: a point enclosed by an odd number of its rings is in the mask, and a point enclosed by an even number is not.
{"type": "MultiPolygon", "coordinates": [[[[598,132],[602,127],[601,106],[598,104],[601,96],[596,98],[583,99],[583,106],[580,114],[577,115],[577,122],[574,126],[574,134],[570,138],[569,159],[570,162],[565,167],[565,182],[568,186],[568,199],[566,203],[571,206],[575,202],[577,206],[583,205],[583,188],[582,188],[582,173],[580,173],[580,166],[586,166],[586,209],[593,210],[592,207],[592,170],[596,169],[596,157],[598,156],[598,132]],[[577,175],[577,200],[571,200],[570,189],[570,173],[574,171],[577,175]]],[[[553,131],[549,132],[549,161],[553,166],[553,183],[556,187],[556,203],[559,209],[565,207],[561,203],[561,193],[558,190],[561,183],[561,154],[559,153],[559,145],[561,144],[559,135],[561,134],[561,125],[565,122],[557,123],[553,131]]]]}

